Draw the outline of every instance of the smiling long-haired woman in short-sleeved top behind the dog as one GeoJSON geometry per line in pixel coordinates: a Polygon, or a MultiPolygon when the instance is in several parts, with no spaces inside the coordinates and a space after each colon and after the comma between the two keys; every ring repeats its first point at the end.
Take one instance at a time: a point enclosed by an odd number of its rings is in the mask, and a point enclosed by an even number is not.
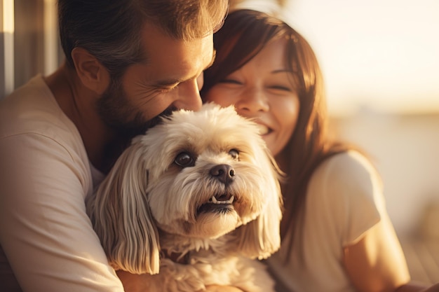
{"type": "Polygon", "coordinates": [[[327,137],[322,74],[306,40],[285,22],[240,10],[214,46],[203,101],[255,119],[287,174],[281,250],[268,260],[283,289],[421,291],[409,284],[378,174],[352,146],[327,137]]]}

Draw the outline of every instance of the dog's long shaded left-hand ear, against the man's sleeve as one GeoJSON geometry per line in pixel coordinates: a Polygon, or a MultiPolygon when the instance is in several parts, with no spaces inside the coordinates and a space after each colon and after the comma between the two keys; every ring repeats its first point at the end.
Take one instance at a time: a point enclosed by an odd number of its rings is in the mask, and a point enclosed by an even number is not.
{"type": "Polygon", "coordinates": [[[156,274],[160,247],[147,202],[143,151],[140,143],[129,146],[86,204],[110,265],[133,274],[156,274]]]}

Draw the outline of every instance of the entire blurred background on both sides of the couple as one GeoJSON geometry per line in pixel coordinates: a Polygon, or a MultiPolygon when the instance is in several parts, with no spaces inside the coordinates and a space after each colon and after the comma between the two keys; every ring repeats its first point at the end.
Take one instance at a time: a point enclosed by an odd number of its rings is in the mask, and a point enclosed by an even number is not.
{"type": "MultiPolygon", "coordinates": [[[[0,98],[63,55],[55,0],[0,0],[0,98]]],[[[439,1],[236,0],[311,43],[331,130],[370,154],[415,280],[439,281],[439,1]]]]}

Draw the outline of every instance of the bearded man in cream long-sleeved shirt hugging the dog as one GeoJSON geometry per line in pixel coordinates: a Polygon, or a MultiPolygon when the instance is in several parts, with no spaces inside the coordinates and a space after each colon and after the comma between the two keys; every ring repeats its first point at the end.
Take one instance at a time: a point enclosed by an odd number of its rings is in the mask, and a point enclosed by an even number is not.
{"type": "MultiPolygon", "coordinates": [[[[0,244],[22,291],[123,291],[84,199],[158,116],[200,109],[226,12],[226,0],[58,1],[65,63],[0,102],[0,244]]],[[[6,258],[1,291],[20,291],[6,258]]]]}

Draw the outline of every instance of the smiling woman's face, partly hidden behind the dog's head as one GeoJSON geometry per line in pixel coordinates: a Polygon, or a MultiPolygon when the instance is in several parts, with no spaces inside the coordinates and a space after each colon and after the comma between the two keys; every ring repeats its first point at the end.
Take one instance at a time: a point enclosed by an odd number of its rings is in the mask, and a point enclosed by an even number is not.
{"type": "Polygon", "coordinates": [[[285,39],[269,43],[204,96],[206,102],[234,104],[241,116],[255,119],[273,155],[288,143],[299,116],[299,97],[286,66],[285,45],[285,39]]]}

